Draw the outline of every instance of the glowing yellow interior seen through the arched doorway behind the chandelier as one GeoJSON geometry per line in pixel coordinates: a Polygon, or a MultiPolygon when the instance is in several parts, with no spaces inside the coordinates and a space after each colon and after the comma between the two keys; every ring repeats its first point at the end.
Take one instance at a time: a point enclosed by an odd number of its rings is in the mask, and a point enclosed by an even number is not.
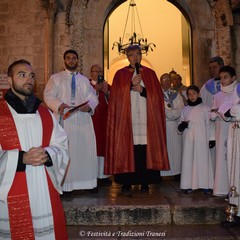
{"type": "MultiPolygon", "coordinates": [[[[137,5],[136,8],[141,21],[140,27],[145,34],[141,37],[147,37],[150,42],[154,42],[157,46],[153,52],[150,51],[147,55],[143,55],[142,64],[153,68],[158,77],[174,68],[183,77],[184,84],[189,85],[192,79],[191,27],[189,20],[178,7],[168,1],[135,0],[134,2],[137,5]]],[[[130,1],[115,1],[115,5],[111,4],[112,9],[108,9],[109,14],[106,16],[104,68],[106,79],[110,84],[116,70],[128,64],[126,57],[118,54],[117,48],[112,50],[112,45],[119,37],[125,37],[122,36],[122,31],[129,4],[130,1]],[[121,6],[119,6],[120,4],[121,6]]],[[[126,23],[129,24],[130,20],[126,23]]],[[[134,19],[135,21],[137,22],[137,18],[134,19]]],[[[131,33],[128,32],[129,34],[131,33]]],[[[125,41],[127,39],[128,37],[125,41]]]]}

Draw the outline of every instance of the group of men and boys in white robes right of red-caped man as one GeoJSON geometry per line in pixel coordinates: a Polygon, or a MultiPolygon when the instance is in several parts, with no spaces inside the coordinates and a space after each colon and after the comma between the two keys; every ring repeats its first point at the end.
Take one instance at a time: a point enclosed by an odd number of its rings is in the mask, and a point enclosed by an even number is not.
{"type": "MultiPolygon", "coordinates": [[[[224,197],[239,209],[240,84],[235,69],[224,65],[219,56],[210,59],[209,73],[211,79],[201,89],[195,85],[186,88],[182,105],[178,101],[182,91],[171,87],[173,76],[165,73],[160,77],[167,139],[174,138],[167,142],[171,171],[161,171],[161,175],[180,173],[184,193],[200,190],[204,195],[224,197]],[[176,136],[176,129],[182,138],[176,136]]],[[[240,224],[240,210],[236,219],[233,224],[240,224]]]]}

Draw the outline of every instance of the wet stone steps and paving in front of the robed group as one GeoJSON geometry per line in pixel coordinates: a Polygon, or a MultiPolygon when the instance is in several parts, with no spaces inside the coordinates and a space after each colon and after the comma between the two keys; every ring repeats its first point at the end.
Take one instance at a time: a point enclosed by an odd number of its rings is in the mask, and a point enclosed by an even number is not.
{"type": "Polygon", "coordinates": [[[74,191],[63,196],[69,239],[240,239],[240,226],[221,227],[223,197],[184,194],[179,182],[164,178],[148,193],[138,186],[124,195],[120,186],[97,193],[74,191]]]}

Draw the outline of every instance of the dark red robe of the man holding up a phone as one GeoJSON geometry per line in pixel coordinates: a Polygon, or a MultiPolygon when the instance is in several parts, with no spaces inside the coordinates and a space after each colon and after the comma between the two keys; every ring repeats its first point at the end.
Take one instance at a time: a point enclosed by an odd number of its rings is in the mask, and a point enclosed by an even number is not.
{"type": "MultiPolygon", "coordinates": [[[[95,88],[93,84],[91,85],[95,88]]],[[[108,86],[108,89],[110,89],[110,85],[108,86]]],[[[102,91],[99,92],[98,101],[99,104],[95,108],[92,120],[97,142],[97,156],[104,157],[106,148],[108,103],[102,91]]]]}

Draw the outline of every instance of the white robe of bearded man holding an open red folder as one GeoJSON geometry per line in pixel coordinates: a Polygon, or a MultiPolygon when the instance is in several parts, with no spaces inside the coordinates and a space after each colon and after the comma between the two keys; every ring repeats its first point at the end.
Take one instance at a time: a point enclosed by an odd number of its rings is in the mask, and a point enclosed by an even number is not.
{"type": "MultiPolygon", "coordinates": [[[[71,105],[71,72],[53,74],[44,90],[44,100],[59,119],[58,108],[62,103],[71,105]]],[[[98,105],[95,90],[88,78],[76,74],[75,105],[89,101],[92,111],[78,111],[63,121],[69,139],[70,164],[63,184],[64,191],[92,189],[97,186],[96,139],[91,114],[98,105]]]]}

